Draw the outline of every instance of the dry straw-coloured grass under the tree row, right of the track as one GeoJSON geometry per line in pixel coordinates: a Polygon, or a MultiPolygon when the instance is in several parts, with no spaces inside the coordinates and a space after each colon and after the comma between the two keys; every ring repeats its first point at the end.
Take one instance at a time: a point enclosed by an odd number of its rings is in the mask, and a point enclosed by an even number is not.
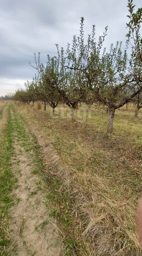
{"type": "Polygon", "coordinates": [[[93,107],[88,116],[82,106],[75,122],[68,118],[70,109],[62,106],[54,118],[48,107],[47,113],[18,109],[44,146],[49,169],[67,186],[74,222],[70,233],[85,244],[80,255],[142,255],[137,234],[142,112],[136,119],[132,105],[116,111],[114,133],[107,135],[107,115],[93,107]]]}

